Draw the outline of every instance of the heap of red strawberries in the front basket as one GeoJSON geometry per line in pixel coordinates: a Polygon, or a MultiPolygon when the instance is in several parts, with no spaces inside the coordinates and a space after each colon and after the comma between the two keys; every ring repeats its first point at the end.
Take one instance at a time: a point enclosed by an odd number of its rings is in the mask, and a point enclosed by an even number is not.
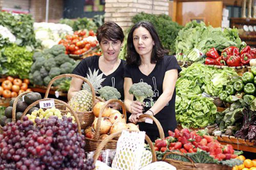
{"type": "Polygon", "coordinates": [[[175,132],[168,131],[169,136],[165,139],[157,139],[154,148],[157,151],[165,152],[166,150],[179,150],[182,153],[195,153],[198,149],[209,152],[210,156],[215,159],[228,160],[234,159],[232,145],[221,145],[213,136],[205,135],[198,131],[189,131],[188,129],[178,130],[175,132]],[[169,142],[170,137],[176,139],[177,142],[169,142]]]}

